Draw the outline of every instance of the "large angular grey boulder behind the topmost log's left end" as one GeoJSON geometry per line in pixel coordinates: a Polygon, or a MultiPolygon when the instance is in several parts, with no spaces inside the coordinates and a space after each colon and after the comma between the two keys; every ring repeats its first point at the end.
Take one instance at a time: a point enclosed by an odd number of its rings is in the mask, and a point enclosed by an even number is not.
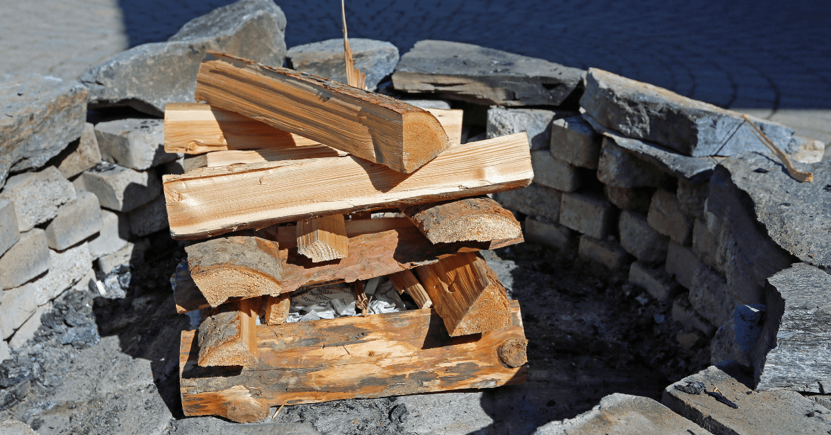
{"type": "Polygon", "coordinates": [[[239,0],[186,22],[167,42],[130,48],[81,76],[93,107],[132,106],[160,116],[170,102],[194,101],[208,50],[282,67],[286,17],[271,0],[239,0]]]}

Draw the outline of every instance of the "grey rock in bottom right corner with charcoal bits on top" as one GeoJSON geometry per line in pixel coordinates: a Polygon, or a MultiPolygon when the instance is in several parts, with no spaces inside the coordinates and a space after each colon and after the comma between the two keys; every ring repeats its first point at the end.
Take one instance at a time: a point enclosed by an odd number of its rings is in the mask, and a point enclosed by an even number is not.
{"type": "Polygon", "coordinates": [[[750,379],[733,366],[711,366],[673,383],[664,390],[661,403],[715,435],[770,433],[828,433],[831,410],[794,391],[747,394],[750,379]],[[720,403],[709,394],[684,393],[675,388],[701,382],[708,392],[718,388],[738,409],[720,403]],[[817,412],[811,412],[817,410],[817,412]]]}

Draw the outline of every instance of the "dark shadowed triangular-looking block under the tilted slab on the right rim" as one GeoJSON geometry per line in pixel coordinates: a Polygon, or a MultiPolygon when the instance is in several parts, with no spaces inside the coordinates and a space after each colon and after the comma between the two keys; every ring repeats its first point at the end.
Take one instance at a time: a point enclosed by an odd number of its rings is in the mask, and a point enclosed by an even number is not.
{"type": "Polygon", "coordinates": [[[668,183],[669,175],[604,136],[597,161],[597,180],[617,187],[661,187],[668,183]]]}

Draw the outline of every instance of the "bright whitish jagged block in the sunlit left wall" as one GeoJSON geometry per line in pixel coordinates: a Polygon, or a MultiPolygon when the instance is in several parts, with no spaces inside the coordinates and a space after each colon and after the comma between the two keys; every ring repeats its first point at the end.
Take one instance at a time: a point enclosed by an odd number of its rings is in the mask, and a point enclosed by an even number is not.
{"type": "Polygon", "coordinates": [[[63,252],[50,250],[49,257],[52,262],[49,271],[32,283],[38,306],[57,298],[83,278],[92,267],[92,257],[86,242],[63,252]]]}

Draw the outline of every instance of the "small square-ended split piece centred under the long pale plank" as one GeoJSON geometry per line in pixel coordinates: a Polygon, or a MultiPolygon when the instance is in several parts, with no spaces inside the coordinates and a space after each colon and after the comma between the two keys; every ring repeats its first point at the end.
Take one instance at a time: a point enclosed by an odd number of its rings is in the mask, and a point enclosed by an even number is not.
{"type": "Polygon", "coordinates": [[[315,263],[346,258],[348,243],[343,215],[297,221],[297,253],[315,263]]]}

